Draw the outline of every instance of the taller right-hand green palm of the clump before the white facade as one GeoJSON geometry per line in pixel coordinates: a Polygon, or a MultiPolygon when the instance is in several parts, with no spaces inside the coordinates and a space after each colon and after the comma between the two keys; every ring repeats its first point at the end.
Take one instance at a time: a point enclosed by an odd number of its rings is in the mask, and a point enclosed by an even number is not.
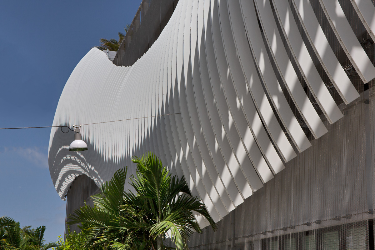
{"type": "Polygon", "coordinates": [[[132,160],[137,164],[137,175],[131,177],[136,195],[126,192],[125,200],[129,205],[137,200],[138,204],[144,204],[141,209],[151,218],[147,224],[158,250],[167,237],[171,237],[177,250],[187,249],[186,241],[193,231],[202,232],[193,212],[204,216],[216,229],[205,206],[190,194],[184,178],[172,177],[152,153],[132,160]]]}

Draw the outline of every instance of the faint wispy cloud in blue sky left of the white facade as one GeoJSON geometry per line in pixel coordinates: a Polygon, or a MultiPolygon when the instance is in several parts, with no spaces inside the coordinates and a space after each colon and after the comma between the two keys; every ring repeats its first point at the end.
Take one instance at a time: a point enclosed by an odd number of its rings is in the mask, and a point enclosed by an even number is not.
{"type": "Polygon", "coordinates": [[[30,163],[33,163],[36,166],[40,166],[42,168],[48,168],[48,156],[46,153],[43,153],[40,148],[7,148],[4,147],[0,153],[6,153],[7,151],[18,154],[20,157],[28,160],[30,163]],[[2,152],[1,152],[2,151],[2,152]]]}

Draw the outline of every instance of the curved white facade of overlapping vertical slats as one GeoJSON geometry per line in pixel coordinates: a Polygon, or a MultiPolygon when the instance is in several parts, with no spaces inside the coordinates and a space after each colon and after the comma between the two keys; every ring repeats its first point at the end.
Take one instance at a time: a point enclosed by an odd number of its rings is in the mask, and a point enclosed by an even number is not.
{"type": "MultiPolygon", "coordinates": [[[[217,222],[284,169],[284,162],[311,146],[296,115],[316,139],[324,135],[322,119],[332,124],[343,114],[314,65],[288,0],[271,1],[274,10],[270,0],[179,1],[160,37],[129,67],[115,66],[105,53],[91,49],[66,83],[53,122],[82,124],[89,150],[68,151],[73,133],[51,130],[49,168],[60,197],[78,175],[86,174],[100,185],[122,166],[129,166],[133,174],[131,156],[152,151],[172,172],[185,176],[193,195],[202,198],[217,222]],[[278,32],[278,25],[283,32],[278,32]],[[314,99],[323,115],[314,108],[314,99]]],[[[310,1],[291,2],[339,96],[352,102],[359,93],[310,1]]],[[[359,15],[370,18],[369,8],[362,7],[366,2],[374,7],[369,0],[351,1],[360,7],[359,15]]],[[[369,57],[349,23],[340,18],[344,12],[339,2],[317,4],[326,8],[360,78],[375,78],[369,57]]],[[[373,26],[366,22],[371,32],[373,26]]]]}

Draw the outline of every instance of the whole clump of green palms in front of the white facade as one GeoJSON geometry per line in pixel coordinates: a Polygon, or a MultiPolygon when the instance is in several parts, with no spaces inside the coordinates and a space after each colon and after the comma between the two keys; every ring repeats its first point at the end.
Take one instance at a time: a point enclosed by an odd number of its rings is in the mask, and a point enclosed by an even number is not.
{"type": "Polygon", "coordinates": [[[187,249],[192,232],[202,232],[193,212],[216,229],[200,199],[190,194],[184,178],[172,176],[152,153],[132,161],[137,164],[136,175],[130,177],[135,193],[123,192],[126,170],[120,169],[102,185],[102,193],[93,196],[93,208],[85,205],[69,216],[70,224],[81,223],[87,230],[87,246],[171,249],[164,245],[170,237],[177,250],[187,249]]]}

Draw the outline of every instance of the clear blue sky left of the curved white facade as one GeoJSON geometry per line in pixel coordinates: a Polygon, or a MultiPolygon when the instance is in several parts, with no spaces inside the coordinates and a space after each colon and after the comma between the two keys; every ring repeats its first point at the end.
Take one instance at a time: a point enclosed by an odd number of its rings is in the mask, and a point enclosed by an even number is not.
{"type": "MultiPolygon", "coordinates": [[[[1,0],[0,127],[51,126],[74,67],[100,38],[117,39],[140,3],[1,0]]],[[[64,233],[66,202],[49,175],[49,133],[0,130],[0,217],[45,225],[45,239],[55,241],[64,233]]]]}

